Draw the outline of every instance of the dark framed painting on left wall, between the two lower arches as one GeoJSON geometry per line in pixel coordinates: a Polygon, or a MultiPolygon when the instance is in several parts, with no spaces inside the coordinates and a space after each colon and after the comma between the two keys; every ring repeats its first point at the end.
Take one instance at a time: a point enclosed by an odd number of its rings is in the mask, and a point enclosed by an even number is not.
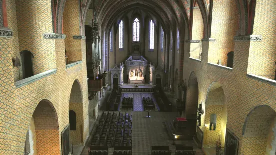
{"type": "Polygon", "coordinates": [[[62,155],[68,155],[70,153],[69,124],[61,132],[61,148],[62,155]]]}

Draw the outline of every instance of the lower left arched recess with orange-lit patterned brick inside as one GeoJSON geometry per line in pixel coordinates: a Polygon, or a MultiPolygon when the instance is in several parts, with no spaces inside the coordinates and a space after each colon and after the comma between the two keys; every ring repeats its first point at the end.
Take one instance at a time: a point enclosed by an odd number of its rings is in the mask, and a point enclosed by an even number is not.
{"type": "Polygon", "coordinates": [[[29,123],[25,152],[30,154],[60,154],[59,138],[56,110],[50,101],[42,100],[37,105],[29,123]]]}

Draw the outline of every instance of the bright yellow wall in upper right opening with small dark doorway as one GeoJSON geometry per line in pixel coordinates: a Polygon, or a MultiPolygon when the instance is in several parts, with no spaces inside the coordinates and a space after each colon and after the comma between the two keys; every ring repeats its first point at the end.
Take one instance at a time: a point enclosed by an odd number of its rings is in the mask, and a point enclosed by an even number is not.
{"type": "Polygon", "coordinates": [[[227,53],[234,51],[234,36],[238,30],[238,11],[235,0],[214,0],[211,38],[216,42],[209,46],[208,62],[227,64],[227,53]],[[236,11],[233,11],[236,10],[236,11]]]}

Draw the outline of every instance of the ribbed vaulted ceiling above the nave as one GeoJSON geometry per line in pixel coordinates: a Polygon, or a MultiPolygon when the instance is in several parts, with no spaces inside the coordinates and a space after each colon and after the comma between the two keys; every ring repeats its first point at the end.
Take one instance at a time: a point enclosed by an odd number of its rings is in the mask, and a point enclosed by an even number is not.
{"type": "MultiPolygon", "coordinates": [[[[200,10],[207,16],[209,0],[196,1],[200,1],[200,10]]],[[[175,25],[181,31],[189,24],[191,3],[194,0],[95,0],[95,14],[102,29],[110,29],[122,15],[139,8],[155,17],[165,31],[175,25]]]]}

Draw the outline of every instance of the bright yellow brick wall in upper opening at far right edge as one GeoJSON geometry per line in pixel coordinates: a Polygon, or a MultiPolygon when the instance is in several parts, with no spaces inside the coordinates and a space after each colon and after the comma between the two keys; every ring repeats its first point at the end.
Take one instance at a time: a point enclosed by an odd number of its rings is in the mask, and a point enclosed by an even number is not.
{"type": "Polygon", "coordinates": [[[253,35],[262,35],[263,40],[251,42],[248,62],[248,73],[273,80],[276,69],[275,8],[274,0],[257,0],[253,35]]]}

